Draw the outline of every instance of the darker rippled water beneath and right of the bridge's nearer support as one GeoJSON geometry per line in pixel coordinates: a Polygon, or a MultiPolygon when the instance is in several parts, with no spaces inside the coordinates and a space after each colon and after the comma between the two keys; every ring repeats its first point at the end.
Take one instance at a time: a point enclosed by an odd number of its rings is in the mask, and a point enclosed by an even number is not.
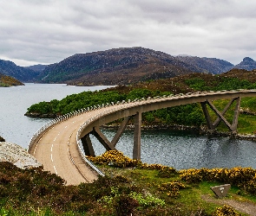
{"type": "MultiPolygon", "coordinates": [[[[114,137],[115,131],[102,130],[106,137],[114,137]]],[[[105,152],[92,137],[95,154],[105,152]]],[[[133,131],[126,130],[116,148],[132,157],[133,131]]],[[[256,168],[256,145],[250,141],[229,137],[199,136],[184,131],[142,130],[141,161],[161,163],[177,169],[183,168],[256,168]]]]}

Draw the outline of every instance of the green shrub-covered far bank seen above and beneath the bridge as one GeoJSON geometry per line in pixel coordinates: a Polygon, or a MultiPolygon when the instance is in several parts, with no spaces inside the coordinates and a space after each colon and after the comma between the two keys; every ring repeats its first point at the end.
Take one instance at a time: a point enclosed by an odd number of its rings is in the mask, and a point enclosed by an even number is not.
{"type": "MultiPolygon", "coordinates": [[[[239,71],[240,72],[240,71],[239,71]]],[[[111,104],[122,100],[134,100],[136,98],[154,98],[155,96],[170,95],[176,93],[198,92],[198,91],[219,91],[235,89],[254,89],[256,79],[252,77],[253,72],[237,73],[231,71],[213,76],[212,74],[191,73],[188,75],[174,77],[172,79],[158,79],[138,83],[134,86],[116,86],[99,92],[82,92],[69,95],[62,100],[52,100],[50,102],[40,102],[31,105],[26,115],[33,113],[40,115],[52,114],[56,116],[69,113],[70,111],[87,108],[94,105],[111,104]],[[246,79],[248,77],[248,79],[246,79]]],[[[256,118],[252,114],[256,113],[255,98],[242,98],[241,108],[244,112],[240,114],[238,132],[252,134],[256,130],[256,118]],[[247,112],[246,112],[247,111],[247,112]],[[250,114],[250,116],[248,115],[250,114]]],[[[227,100],[214,101],[213,104],[219,110],[223,110],[227,100]]],[[[225,117],[232,122],[234,106],[226,112],[225,117]]],[[[216,118],[213,111],[210,115],[216,118]]],[[[190,126],[206,125],[200,104],[181,105],[157,111],[150,111],[142,114],[143,124],[184,124],[190,126]]],[[[226,125],[220,123],[219,131],[228,131],[226,125]]]]}

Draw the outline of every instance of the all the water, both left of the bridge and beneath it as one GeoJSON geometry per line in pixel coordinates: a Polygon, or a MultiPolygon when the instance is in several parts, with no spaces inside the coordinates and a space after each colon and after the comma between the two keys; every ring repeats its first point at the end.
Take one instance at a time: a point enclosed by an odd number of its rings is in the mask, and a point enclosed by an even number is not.
{"type": "MultiPolygon", "coordinates": [[[[0,136],[27,148],[30,137],[49,119],[24,116],[30,105],[61,99],[72,93],[95,91],[107,86],[65,86],[62,84],[26,84],[0,88],[0,136]]],[[[111,140],[115,130],[104,130],[111,140]]],[[[93,138],[96,155],[105,149],[93,138]]],[[[116,146],[132,157],[133,131],[126,131],[116,146]]],[[[228,137],[197,136],[171,130],[142,130],[141,160],[181,168],[252,167],[256,168],[256,143],[228,137]]]]}

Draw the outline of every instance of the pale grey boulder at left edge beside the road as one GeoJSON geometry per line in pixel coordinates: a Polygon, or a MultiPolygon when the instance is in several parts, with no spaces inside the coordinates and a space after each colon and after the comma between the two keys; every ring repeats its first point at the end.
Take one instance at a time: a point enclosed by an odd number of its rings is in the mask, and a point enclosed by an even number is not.
{"type": "Polygon", "coordinates": [[[42,166],[34,156],[31,156],[21,146],[7,142],[0,142],[0,162],[11,162],[18,168],[42,166]]]}

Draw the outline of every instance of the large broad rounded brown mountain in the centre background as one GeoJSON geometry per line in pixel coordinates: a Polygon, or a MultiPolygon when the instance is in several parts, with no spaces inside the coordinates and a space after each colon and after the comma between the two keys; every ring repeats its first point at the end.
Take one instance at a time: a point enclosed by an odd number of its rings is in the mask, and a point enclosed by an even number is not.
{"type": "Polygon", "coordinates": [[[70,85],[126,85],[148,79],[170,78],[203,70],[148,48],[114,48],[88,54],[74,54],[43,70],[46,83],[70,85]]]}

